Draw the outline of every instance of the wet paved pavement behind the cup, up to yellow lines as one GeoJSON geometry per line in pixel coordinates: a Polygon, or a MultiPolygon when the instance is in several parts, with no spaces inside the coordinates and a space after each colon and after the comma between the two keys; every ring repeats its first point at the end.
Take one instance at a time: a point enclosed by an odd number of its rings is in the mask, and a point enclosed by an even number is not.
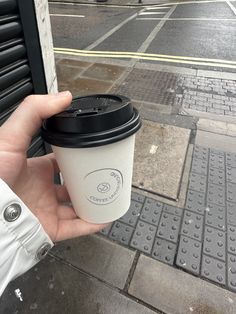
{"type": "Polygon", "coordinates": [[[60,90],[125,94],[139,109],[136,184],[122,218],[56,244],[9,284],[0,313],[236,313],[236,75],[62,54],[56,64],[60,90]]]}

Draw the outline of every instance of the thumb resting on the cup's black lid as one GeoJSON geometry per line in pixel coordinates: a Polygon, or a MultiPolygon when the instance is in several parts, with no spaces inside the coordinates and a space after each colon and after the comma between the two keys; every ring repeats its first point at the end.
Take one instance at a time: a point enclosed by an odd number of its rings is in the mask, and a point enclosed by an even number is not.
{"type": "Polygon", "coordinates": [[[10,118],[1,127],[1,137],[14,143],[14,151],[25,152],[32,136],[42,121],[57,114],[70,105],[72,95],[62,92],[56,95],[31,95],[24,99],[10,118]],[[18,139],[17,145],[15,139],[18,139]]]}

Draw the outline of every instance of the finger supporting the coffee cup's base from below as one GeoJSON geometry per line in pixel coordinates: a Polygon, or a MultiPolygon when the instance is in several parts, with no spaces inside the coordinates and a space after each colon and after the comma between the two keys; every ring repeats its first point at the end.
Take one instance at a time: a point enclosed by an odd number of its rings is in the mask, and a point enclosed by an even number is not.
{"type": "Polygon", "coordinates": [[[108,225],[109,224],[91,224],[79,218],[59,220],[57,238],[55,241],[62,241],[95,233],[106,228],[108,225]]]}

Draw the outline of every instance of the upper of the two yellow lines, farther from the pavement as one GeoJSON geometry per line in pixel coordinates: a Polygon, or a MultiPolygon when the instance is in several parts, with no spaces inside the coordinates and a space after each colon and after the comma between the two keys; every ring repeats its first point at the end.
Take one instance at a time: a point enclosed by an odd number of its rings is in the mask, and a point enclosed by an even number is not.
{"type": "Polygon", "coordinates": [[[94,51],[94,50],[79,50],[79,49],[71,49],[71,48],[54,48],[54,51],[68,51],[74,52],[78,54],[105,54],[105,55],[127,55],[130,56],[138,56],[138,57],[155,57],[155,58],[168,58],[168,59],[179,59],[179,60],[190,60],[190,61],[202,61],[202,62],[216,62],[216,63],[226,63],[226,64],[235,64],[236,61],[223,60],[223,59],[211,59],[211,58],[196,58],[196,57],[183,57],[183,56],[173,56],[173,55],[163,55],[163,54],[155,54],[155,53],[146,53],[146,52],[127,52],[127,51],[94,51]]]}

